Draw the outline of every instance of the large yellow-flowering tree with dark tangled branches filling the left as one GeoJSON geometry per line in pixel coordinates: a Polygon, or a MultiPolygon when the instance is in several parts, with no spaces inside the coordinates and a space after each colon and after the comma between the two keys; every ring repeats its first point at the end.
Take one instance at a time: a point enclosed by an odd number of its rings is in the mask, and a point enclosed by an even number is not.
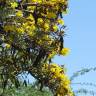
{"type": "Polygon", "coordinates": [[[16,88],[18,74],[27,71],[54,96],[73,96],[63,68],[52,62],[67,55],[63,13],[67,0],[0,0],[0,74],[3,89],[10,80],[16,88]]]}

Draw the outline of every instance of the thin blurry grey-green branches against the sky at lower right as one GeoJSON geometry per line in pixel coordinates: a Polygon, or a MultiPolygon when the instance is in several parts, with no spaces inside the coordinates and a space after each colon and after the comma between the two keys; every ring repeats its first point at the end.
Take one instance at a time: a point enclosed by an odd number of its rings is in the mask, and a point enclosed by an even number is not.
{"type": "Polygon", "coordinates": [[[82,76],[82,75],[85,75],[86,73],[89,73],[89,72],[95,72],[96,71],[96,67],[91,67],[91,68],[82,68],[81,70],[75,72],[71,77],[70,77],[70,80],[71,80],[71,86],[73,87],[74,85],[79,85],[79,87],[81,88],[78,88],[76,90],[74,90],[74,94],[75,96],[78,96],[78,95],[92,95],[92,96],[95,96],[96,95],[96,92],[95,90],[93,90],[95,87],[96,87],[96,84],[92,82],[74,82],[74,79],[76,79],[77,77],[79,76],[82,76]],[[85,86],[85,88],[84,88],[85,86]],[[88,87],[90,86],[90,87],[88,87]],[[86,89],[87,88],[87,89],[86,89]],[[90,88],[93,88],[90,90],[90,88]]]}

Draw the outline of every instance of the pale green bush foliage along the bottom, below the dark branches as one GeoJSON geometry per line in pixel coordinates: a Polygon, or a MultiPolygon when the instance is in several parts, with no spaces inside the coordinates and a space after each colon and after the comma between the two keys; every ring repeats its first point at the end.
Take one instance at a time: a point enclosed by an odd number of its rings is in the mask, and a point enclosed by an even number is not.
{"type": "Polygon", "coordinates": [[[52,93],[48,90],[40,91],[29,85],[28,87],[21,86],[19,89],[15,87],[8,88],[3,96],[52,96],[52,93]]]}

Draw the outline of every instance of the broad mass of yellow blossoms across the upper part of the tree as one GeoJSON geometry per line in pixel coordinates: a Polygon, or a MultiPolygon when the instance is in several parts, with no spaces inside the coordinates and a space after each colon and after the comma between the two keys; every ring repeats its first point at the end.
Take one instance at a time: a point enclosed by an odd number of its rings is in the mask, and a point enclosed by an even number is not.
{"type": "MultiPolygon", "coordinates": [[[[5,31],[16,31],[18,34],[27,34],[33,38],[37,36],[36,32],[39,30],[45,36],[36,38],[37,44],[45,45],[46,47],[50,46],[53,39],[50,37],[51,32],[57,35],[57,32],[59,33],[58,25],[64,25],[64,21],[60,16],[67,9],[67,7],[65,8],[68,5],[67,2],[68,0],[28,0],[28,3],[33,5],[27,6],[26,11],[25,9],[22,10],[22,8],[15,10],[16,21],[13,20],[15,21],[14,28],[7,25],[4,26],[4,29],[5,31]],[[35,4],[38,6],[36,7],[35,4]],[[34,12],[37,13],[33,15],[34,12]]],[[[25,3],[26,1],[23,1],[22,5],[25,3]]],[[[18,7],[18,2],[10,2],[10,7],[15,9],[18,7]]]]}

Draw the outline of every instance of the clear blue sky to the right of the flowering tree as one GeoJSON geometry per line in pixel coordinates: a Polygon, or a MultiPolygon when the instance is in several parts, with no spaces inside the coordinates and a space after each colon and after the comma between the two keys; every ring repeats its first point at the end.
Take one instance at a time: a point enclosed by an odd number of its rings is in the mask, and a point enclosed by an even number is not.
{"type": "MultiPolygon", "coordinates": [[[[70,48],[71,53],[67,57],[56,56],[54,59],[58,64],[66,64],[69,76],[82,68],[96,66],[95,9],[96,0],[69,0],[69,13],[64,16],[64,21],[67,25],[65,47],[70,48]]],[[[96,83],[95,72],[75,78],[74,82],[96,83]]]]}

